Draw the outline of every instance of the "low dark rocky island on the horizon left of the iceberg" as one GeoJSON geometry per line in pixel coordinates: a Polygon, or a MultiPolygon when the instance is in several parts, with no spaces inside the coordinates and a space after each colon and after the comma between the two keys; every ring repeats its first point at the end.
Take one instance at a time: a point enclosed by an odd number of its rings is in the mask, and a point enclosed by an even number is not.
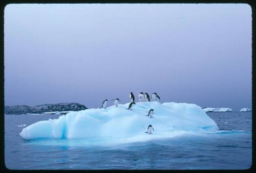
{"type": "Polygon", "coordinates": [[[41,114],[46,112],[80,111],[88,109],[78,103],[43,104],[33,107],[27,105],[5,106],[5,114],[41,114]]]}

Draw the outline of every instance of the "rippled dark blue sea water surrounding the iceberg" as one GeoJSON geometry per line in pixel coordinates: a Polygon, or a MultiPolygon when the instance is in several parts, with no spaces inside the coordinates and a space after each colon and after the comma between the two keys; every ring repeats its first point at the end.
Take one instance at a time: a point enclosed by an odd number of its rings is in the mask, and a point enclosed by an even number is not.
{"type": "Polygon", "coordinates": [[[24,140],[23,127],[59,115],[5,115],[9,169],[248,169],[252,163],[251,112],[209,112],[219,133],[108,146],[78,139],[24,140]]]}

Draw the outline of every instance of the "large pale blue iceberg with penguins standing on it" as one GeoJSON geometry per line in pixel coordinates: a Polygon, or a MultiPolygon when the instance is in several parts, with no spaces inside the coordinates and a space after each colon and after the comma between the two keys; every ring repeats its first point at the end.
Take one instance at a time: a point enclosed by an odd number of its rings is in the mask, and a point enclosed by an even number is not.
{"type": "Polygon", "coordinates": [[[58,119],[38,121],[19,134],[24,139],[34,138],[138,138],[139,136],[170,137],[175,131],[218,131],[219,128],[205,111],[186,103],[139,102],[133,110],[130,103],[106,109],[86,109],[70,112],[58,119]],[[145,116],[154,109],[152,118],[145,116]],[[153,135],[146,132],[154,127],[153,135]]]}

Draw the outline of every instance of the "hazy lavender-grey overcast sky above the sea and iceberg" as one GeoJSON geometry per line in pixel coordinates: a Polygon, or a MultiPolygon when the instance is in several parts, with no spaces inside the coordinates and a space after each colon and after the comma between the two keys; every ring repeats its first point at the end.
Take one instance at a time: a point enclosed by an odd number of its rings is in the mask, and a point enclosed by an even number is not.
{"type": "Polygon", "coordinates": [[[252,106],[247,4],[9,4],[4,22],[6,106],[252,106]]]}

